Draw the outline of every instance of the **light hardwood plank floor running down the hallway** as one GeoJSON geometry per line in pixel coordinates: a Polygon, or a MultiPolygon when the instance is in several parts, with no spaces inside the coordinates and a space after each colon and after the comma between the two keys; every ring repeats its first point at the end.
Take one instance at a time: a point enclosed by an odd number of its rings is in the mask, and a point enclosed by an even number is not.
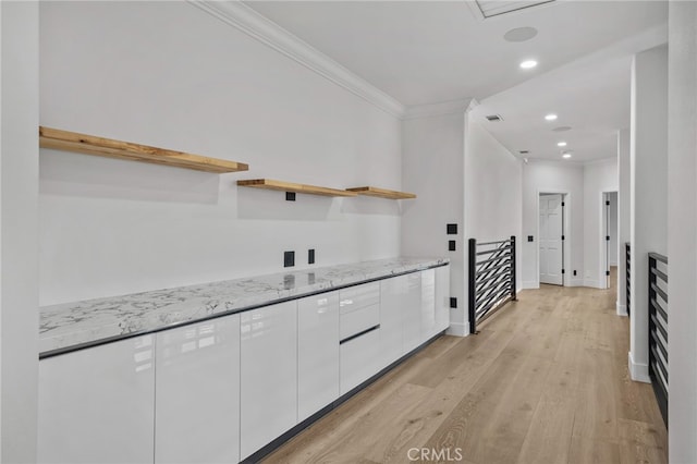
{"type": "Polygon", "coordinates": [[[406,463],[412,448],[470,464],[668,462],[614,289],[524,291],[480,329],[439,338],[265,462],[406,463]]]}

